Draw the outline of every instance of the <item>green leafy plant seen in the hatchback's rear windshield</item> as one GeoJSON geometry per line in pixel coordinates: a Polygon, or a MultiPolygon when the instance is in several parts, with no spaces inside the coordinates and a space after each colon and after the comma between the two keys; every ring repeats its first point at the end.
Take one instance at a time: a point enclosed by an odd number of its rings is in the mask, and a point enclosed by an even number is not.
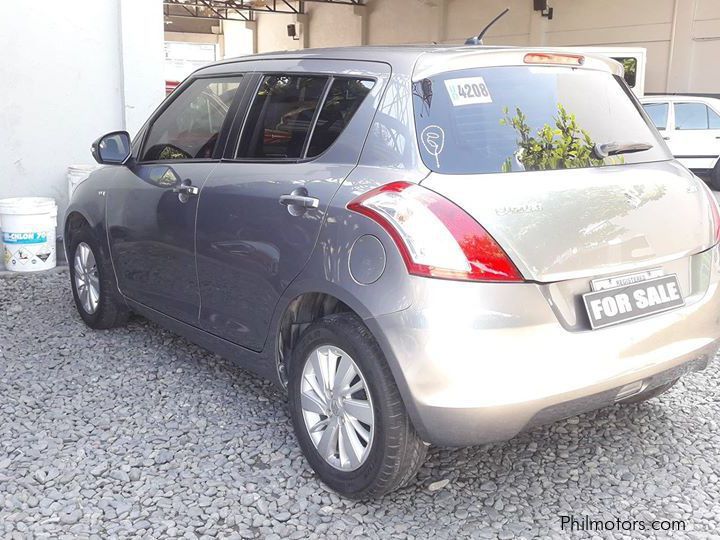
{"type": "MultiPolygon", "coordinates": [[[[525,170],[544,171],[554,169],[576,169],[580,167],[599,167],[604,164],[595,156],[595,143],[584,129],[577,125],[574,114],[568,113],[558,104],[558,115],[553,117],[555,125],[545,124],[533,136],[527,123],[527,116],[517,108],[516,115],[510,117],[508,108],[503,112],[505,118],[500,124],[513,127],[519,135],[518,161],[525,170]]],[[[513,157],[502,164],[502,171],[512,170],[513,157]]]]}

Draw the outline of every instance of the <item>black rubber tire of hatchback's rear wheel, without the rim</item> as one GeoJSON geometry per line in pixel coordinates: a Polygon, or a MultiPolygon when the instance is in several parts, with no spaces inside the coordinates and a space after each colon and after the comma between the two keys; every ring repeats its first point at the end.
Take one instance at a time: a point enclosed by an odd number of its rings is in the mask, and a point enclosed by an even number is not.
{"type": "Polygon", "coordinates": [[[288,392],[290,416],[305,457],[320,479],[340,495],[352,499],[380,497],[409,483],[423,464],[427,446],[410,422],[380,347],[356,316],[330,315],[305,330],[292,351],[288,392]],[[375,433],[365,461],[353,471],[337,469],[320,455],[303,418],[300,402],[303,367],[310,354],[323,345],[346,351],[370,391],[375,433]]]}

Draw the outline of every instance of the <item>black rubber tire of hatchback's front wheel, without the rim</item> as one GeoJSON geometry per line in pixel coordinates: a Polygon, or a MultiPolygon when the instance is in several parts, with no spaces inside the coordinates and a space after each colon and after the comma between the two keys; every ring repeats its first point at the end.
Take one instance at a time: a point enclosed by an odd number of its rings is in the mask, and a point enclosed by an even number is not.
{"type": "Polygon", "coordinates": [[[110,259],[87,225],[83,225],[72,232],[68,256],[70,258],[68,265],[70,266],[70,284],[73,299],[75,300],[75,307],[85,324],[96,330],[115,328],[126,324],[130,316],[130,310],[120,291],[118,291],[110,259]],[[100,299],[97,309],[92,313],[83,307],[75,280],[75,253],[80,244],[89,246],[95,257],[95,268],[100,285],[100,299]]]}

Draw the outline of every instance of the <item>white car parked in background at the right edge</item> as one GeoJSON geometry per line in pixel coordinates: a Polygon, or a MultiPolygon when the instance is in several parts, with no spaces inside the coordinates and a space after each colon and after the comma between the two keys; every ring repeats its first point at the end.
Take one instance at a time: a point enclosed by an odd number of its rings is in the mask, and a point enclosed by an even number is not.
{"type": "Polygon", "coordinates": [[[720,99],[647,96],[640,101],[675,158],[709,175],[712,188],[720,190],[720,99]]]}

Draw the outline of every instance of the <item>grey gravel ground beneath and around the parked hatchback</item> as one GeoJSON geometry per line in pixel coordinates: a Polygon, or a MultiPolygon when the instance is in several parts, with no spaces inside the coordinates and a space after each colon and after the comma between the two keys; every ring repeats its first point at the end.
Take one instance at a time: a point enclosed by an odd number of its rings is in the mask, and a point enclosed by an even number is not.
{"type": "Polygon", "coordinates": [[[564,533],[572,514],[717,538],[718,374],[505,444],[432,449],[409,488],[358,503],[315,479],[269,383],[142,319],[87,329],[65,271],[0,277],[0,537],[611,536],[564,533]]]}

